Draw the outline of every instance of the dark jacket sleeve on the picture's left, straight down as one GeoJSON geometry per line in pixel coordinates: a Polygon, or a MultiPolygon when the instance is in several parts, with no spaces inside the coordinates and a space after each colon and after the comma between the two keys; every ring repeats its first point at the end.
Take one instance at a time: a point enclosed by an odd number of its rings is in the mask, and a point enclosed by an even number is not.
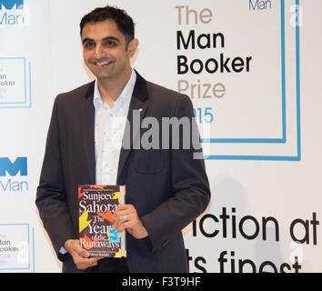
{"type": "Polygon", "coordinates": [[[70,238],[76,238],[71,216],[66,202],[63,168],[61,164],[61,141],[58,126],[58,101],[55,99],[49,125],[45,157],[37,188],[35,204],[50,237],[55,252],[59,254],[61,246],[70,238]]]}

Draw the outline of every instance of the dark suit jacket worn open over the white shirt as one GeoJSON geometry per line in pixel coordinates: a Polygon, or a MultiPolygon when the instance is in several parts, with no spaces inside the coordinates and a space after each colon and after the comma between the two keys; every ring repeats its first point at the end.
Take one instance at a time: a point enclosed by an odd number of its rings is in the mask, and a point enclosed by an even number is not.
{"type": "MultiPolygon", "coordinates": [[[[91,82],[56,97],[35,201],[58,258],[65,266],[68,262],[67,271],[75,265],[59,250],[67,239],[78,238],[76,187],[96,182],[93,95],[91,82]]],[[[128,113],[130,124],[135,109],[142,109],[141,120],[153,116],[160,125],[162,117],[193,116],[189,97],[138,74],[128,113]]],[[[132,125],[126,129],[136,137],[148,130],[136,132],[132,125]]],[[[159,136],[161,144],[161,129],[159,136]]],[[[187,271],[181,230],[205,211],[210,199],[204,160],[194,159],[193,152],[192,148],[121,149],[117,184],[126,185],[126,204],[136,207],[149,234],[139,240],[126,235],[130,272],[187,271]]]]}

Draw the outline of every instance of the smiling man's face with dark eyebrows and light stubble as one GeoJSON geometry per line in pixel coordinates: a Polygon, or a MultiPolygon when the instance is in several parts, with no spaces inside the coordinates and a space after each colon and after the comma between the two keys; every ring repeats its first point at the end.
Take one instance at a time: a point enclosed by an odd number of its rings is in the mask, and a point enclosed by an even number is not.
{"type": "Polygon", "coordinates": [[[126,36],[114,21],[86,24],[82,43],[84,61],[98,80],[122,78],[130,72],[130,58],[136,52],[136,40],[127,46],[126,36]]]}

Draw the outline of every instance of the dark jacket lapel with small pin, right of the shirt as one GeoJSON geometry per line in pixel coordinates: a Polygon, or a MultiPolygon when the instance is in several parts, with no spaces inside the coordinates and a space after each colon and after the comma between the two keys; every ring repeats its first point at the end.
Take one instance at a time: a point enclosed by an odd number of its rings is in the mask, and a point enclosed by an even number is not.
{"type": "Polygon", "coordinates": [[[148,98],[146,80],[136,72],[136,85],[133,90],[131,103],[128,108],[127,123],[125,136],[123,137],[124,144],[121,148],[120,157],[118,161],[117,169],[117,184],[121,184],[120,178],[123,172],[123,168],[126,165],[126,159],[130,153],[130,149],[136,148],[134,141],[140,143],[140,129],[142,119],[146,115],[146,100],[148,98]],[[139,119],[137,115],[139,114],[139,119]],[[129,143],[125,142],[125,139],[129,138],[129,143]],[[138,138],[138,139],[137,139],[138,138]]]}

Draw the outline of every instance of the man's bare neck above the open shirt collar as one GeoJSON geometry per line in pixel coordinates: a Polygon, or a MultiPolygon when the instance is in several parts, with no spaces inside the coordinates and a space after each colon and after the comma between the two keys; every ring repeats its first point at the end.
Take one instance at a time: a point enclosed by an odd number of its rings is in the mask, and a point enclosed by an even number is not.
{"type": "Polygon", "coordinates": [[[103,101],[109,106],[113,107],[118,97],[121,95],[126,83],[130,79],[132,69],[130,68],[126,74],[121,77],[111,79],[97,79],[99,93],[103,101]]]}

